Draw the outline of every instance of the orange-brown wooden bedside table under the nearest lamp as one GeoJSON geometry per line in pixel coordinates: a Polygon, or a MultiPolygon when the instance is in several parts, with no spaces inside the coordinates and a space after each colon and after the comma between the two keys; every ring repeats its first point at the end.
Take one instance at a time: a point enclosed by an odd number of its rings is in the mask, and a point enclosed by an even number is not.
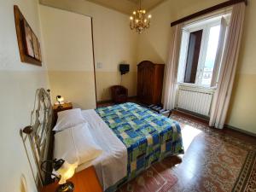
{"type": "MultiPolygon", "coordinates": [[[[81,172],[76,172],[68,181],[74,184],[73,192],[103,192],[102,186],[96,176],[94,166],[90,166],[81,172]]],[[[58,186],[58,183],[51,183],[44,186],[40,192],[55,192],[58,186]]]]}

